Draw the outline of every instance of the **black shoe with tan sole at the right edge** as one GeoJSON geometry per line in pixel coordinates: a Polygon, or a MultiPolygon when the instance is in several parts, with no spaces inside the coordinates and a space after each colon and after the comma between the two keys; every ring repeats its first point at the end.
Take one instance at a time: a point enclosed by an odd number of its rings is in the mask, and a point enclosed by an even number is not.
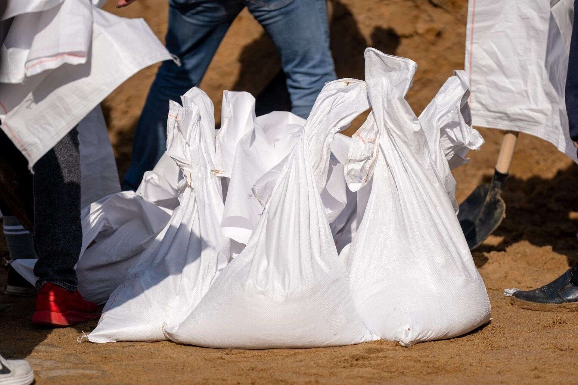
{"type": "Polygon", "coordinates": [[[516,291],[510,297],[510,303],[518,308],[543,312],[577,312],[578,276],[573,269],[542,287],[516,291]]]}

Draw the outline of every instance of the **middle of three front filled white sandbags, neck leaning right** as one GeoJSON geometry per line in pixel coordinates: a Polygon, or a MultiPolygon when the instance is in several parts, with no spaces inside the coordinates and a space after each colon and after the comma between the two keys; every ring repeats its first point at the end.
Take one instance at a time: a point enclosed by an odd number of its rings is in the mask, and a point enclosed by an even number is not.
{"type": "Polygon", "coordinates": [[[375,339],[355,313],[320,191],[329,142],[368,109],[364,82],[325,85],[247,246],[165,335],[208,347],[348,345],[375,339]]]}

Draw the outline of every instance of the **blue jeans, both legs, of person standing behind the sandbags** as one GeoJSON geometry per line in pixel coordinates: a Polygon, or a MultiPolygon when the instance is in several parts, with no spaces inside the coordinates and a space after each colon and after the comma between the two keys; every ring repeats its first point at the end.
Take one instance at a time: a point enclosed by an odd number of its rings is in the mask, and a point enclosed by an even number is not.
{"type": "Polygon", "coordinates": [[[245,6],[279,51],[291,112],[306,118],[324,84],[336,79],[325,0],[170,0],[166,47],[180,58],[181,66],[165,61],[157,72],[136,126],[125,190],[135,190],[165,152],[169,100],[180,101],[180,95],[201,83],[223,36],[245,6]]]}

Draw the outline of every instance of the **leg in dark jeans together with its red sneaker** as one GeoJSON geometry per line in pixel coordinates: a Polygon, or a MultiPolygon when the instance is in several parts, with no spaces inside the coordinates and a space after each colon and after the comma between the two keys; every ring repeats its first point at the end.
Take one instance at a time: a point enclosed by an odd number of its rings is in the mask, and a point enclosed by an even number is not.
{"type": "Polygon", "coordinates": [[[73,128],[34,169],[34,274],[36,311],[32,323],[69,326],[99,317],[98,305],[76,290],[75,265],[82,247],[80,152],[73,128]]]}

